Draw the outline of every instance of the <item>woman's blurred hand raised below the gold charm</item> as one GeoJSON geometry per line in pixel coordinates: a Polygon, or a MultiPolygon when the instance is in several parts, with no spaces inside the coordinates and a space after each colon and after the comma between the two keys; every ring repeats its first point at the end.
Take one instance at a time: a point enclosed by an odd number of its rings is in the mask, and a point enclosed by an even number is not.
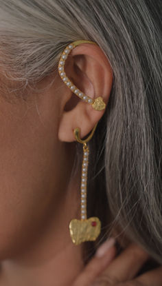
{"type": "Polygon", "coordinates": [[[113,240],[109,246],[104,256],[92,258],[72,286],[162,286],[162,267],[137,276],[150,258],[141,247],[131,244],[115,257],[113,240]]]}

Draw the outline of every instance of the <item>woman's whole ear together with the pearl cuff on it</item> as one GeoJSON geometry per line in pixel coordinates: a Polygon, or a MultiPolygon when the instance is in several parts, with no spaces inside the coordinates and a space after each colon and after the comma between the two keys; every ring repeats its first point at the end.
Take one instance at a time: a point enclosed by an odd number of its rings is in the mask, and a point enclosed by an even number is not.
{"type": "Polygon", "coordinates": [[[73,46],[77,42],[71,43],[62,52],[58,65],[62,84],[66,84],[71,95],[79,99],[72,110],[63,110],[60,119],[58,139],[67,142],[75,141],[73,130],[76,127],[80,127],[81,138],[93,129],[104,114],[113,84],[113,71],[101,48],[91,44],[91,41],[73,46]],[[65,60],[67,63],[73,60],[73,65],[69,64],[70,68],[68,65],[66,68],[65,60]],[[75,66],[80,72],[76,72],[75,66]]]}

